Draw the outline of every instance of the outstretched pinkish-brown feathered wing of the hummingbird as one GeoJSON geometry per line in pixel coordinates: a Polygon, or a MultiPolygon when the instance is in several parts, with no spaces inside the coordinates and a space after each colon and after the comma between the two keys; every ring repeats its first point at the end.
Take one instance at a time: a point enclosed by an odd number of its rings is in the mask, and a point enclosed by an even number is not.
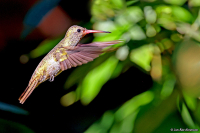
{"type": "Polygon", "coordinates": [[[56,59],[60,62],[60,68],[62,71],[71,67],[80,66],[86,64],[95,58],[97,58],[103,52],[112,51],[116,48],[108,48],[108,46],[120,43],[121,41],[110,42],[93,42],[89,44],[78,44],[72,49],[66,49],[66,55],[63,57],[63,53],[56,53],[56,59]],[[105,49],[105,50],[104,50],[105,49]]]}

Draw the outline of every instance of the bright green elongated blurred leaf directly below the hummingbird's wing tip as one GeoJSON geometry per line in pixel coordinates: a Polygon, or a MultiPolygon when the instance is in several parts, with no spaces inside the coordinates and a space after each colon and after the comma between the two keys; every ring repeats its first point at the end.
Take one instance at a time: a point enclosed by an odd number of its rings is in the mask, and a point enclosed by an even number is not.
{"type": "Polygon", "coordinates": [[[110,57],[104,63],[91,70],[83,80],[81,102],[86,105],[90,103],[99,93],[101,87],[111,77],[118,60],[110,57]]]}

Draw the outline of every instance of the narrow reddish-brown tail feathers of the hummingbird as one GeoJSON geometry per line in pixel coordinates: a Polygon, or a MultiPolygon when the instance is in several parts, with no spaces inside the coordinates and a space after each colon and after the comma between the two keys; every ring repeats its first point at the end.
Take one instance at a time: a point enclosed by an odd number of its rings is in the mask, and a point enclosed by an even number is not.
{"type": "Polygon", "coordinates": [[[19,97],[19,102],[21,104],[23,104],[26,101],[26,99],[30,96],[30,94],[37,87],[37,85],[38,85],[37,78],[35,78],[32,82],[29,83],[28,87],[26,87],[26,90],[19,97]]]}

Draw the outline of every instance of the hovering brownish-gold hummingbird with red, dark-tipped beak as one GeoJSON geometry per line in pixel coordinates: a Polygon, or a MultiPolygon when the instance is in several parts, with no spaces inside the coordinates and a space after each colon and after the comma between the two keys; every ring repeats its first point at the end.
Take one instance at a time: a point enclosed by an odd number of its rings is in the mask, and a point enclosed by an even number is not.
{"type": "Polygon", "coordinates": [[[42,59],[35,69],[25,91],[19,97],[23,104],[33,90],[42,82],[54,78],[62,71],[71,67],[80,66],[93,61],[100,54],[112,51],[113,48],[105,49],[108,46],[120,43],[120,41],[93,42],[81,44],[80,40],[89,33],[111,33],[108,31],[88,30],[73,25],[65,34],[65,37],[42,59]]]}

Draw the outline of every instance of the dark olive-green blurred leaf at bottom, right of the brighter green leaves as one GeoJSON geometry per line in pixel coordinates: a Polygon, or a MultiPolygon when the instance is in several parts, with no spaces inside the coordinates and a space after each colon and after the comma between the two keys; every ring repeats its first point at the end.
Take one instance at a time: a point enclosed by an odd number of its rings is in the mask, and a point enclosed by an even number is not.
{"type": "Polygon", "coordinates": [[[159,101],[159,103],[157,104],[150,103],[150,105],[148,105],[148,108],[144,107],[143,111],[141,111],[137,115],[133,132],[154,132],[154,130],[156,130],[171,113],[174,113],[174,111],[176,111],[177,96],[178,92],[173,91],[172,95],[170,95],[167,99],[159,101]]]}

